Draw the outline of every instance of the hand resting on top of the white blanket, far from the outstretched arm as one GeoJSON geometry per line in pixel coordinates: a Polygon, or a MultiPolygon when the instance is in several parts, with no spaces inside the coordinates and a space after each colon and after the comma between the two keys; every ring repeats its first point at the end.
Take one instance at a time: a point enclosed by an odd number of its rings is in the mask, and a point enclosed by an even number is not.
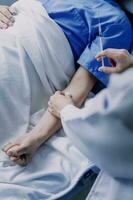
{"type": "Polygon", "coordinates": [[[16,15],[15,8],[8,6],[0,6],[0,29],[7,29],[15,22],[14,15],[16,15]]]}

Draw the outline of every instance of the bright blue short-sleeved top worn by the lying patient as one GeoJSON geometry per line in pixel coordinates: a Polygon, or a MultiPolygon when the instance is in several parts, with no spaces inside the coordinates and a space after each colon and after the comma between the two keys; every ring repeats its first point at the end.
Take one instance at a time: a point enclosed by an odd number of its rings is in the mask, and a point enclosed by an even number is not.
{"type": "MultiPolygon", "coordinates": [[[[130,50],[132,28],[124,12],[113,0],[40,0],[49,16],[62,28],[73,51],[75,61],[106,86],[109,75],[98,71],[101,63],[95,56],[101,51],[99,17],[103,49],[130,50]]],[[[105,65],[109,65],[105,59],[105,65]]]]}

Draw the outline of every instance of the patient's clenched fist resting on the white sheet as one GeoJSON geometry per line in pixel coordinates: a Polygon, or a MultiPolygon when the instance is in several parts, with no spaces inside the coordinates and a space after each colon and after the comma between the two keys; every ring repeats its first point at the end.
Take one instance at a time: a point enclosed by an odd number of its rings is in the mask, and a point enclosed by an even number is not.
{"type": "Polygon", "coordinates": [[[10,160],[20,166],[26,166],[39,148],[36,134],[27,133],[14,142],[8,143],[3,151],[10,160]]]}

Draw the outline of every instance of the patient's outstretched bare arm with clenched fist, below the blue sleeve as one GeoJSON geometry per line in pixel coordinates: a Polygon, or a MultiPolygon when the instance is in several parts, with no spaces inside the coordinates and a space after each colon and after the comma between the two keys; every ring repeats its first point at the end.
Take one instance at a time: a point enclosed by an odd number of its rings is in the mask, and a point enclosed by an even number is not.
{"type": "MultiPolygon", "coordinates": [[[[95,83],[96,78],[83,67],[80,67],[64,92],[71,94],[74,104],[80,107],[95,83]]],[[[40,145],[60,128],[60,119],[47,110],[31,132],[7,144],[3,151],[13,162],[25,166],[32,159],[40,145]]]]}

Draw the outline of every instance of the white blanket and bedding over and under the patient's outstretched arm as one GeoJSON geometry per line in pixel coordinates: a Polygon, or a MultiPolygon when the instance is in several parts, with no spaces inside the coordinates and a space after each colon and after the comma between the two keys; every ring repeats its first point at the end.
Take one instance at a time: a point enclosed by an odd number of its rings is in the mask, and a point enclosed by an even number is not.
{"type": "MultiPolygon", "coordinates": [[[[49,96],[74,73],[69,43],[38,1],[20,0],[16,22],[0,30],[0,147],[27,132],[49,96]]],[[[61,131],[26,167],[0,154],[0,199],[56,199],[93,165],[61,131]],[[8,191],[8,192],[7,192],[8,191]]]]}

